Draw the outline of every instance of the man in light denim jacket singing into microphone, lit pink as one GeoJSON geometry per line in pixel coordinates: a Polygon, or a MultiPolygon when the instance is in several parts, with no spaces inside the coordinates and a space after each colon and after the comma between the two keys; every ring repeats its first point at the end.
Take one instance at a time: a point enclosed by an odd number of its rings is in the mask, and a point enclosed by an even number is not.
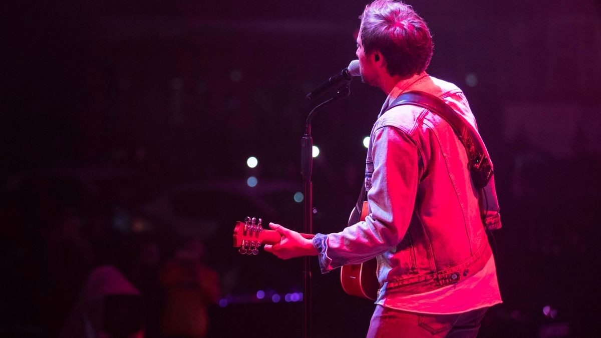
{"type": "Polygon", "coordinates": [[[360,18],[362,79],[388,94],[367,153],[368,215],[313,240],[270,224],[282,239],[265,250],[282,259],[318,256],[322,272],[377,257],[368,337],[475,337],[486,310],[501,303],[485,232],[501,226],[494,182],[487,193],[475,185],[466,147],[441,115],[391,103],[421,91],[477,130],[474,115],[456,85],[425,72],[432,36],[412,7],[376,0],[360,18]]]}

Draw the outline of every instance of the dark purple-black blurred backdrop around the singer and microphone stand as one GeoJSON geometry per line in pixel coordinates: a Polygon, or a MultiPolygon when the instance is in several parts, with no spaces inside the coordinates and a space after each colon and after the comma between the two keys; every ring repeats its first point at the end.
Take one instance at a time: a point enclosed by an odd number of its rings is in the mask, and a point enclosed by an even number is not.
{"type": "MultiPolygon", "coordinates": [[[[301,229],[302,203],[292,196],[302,191],[304,97],[355,58],[366,3],[11,4],[0,100],[0,335],[56,336],[85,276],[109,264],[141,290],[147,336],[160,336],[157,276],[194,239],[220,278],[210,337],[299,337],[301,303],[254,295],[299,292],[301,260],[240,256],[231,230],[246,215],[301,229]]],[[[433,33],[428,72],[463,88],[495,161],[504,303],[480,336],[593,335],[601,5],[409,4],[433,33]]],[[[351,91],[314,119],[317,232],[344,227],[361,184],[362,139],[385,99],[358,80],[351,91]]],[[[344,295],[337,272],[316,269],[313,281],[315,336],[363,336],[373,305],[344,295]]]]}

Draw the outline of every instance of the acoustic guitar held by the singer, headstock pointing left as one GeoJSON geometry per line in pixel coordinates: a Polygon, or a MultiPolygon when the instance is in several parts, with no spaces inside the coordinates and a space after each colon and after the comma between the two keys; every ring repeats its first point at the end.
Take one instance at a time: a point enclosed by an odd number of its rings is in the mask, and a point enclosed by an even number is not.
{"type": "MultiPolygon", "coordinates": [[[[367,202],[363,203],[361,221],[367,216],[367,202]]],[[[278,244],[281,236],[274,230],[263,229],[263,221],[259,218],[246,217],[244,222],[237,222],[234,227],[234,248],[241,254],[258,254],[263,244],[278,244]]],[[[303,238],[311,239],[315,235],[301,233],[303,238]]],[[[360,264],[343,265],[340,269],[340,283],[344,292],[349,295],[376,300],[380,283],[376,278],[377,262],[370,259],[360,264]]]]}

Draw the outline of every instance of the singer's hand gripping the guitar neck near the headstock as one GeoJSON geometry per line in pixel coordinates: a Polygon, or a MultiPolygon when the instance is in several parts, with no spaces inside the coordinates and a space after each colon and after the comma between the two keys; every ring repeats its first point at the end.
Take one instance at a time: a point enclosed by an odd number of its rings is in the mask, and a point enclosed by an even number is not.
{"type": "Polygon", "coordinates": [[[265,251],[275,254],[281,259],[290,259],[299,256],[317,256],[317,249],[313,247],[310,239],[305,239],[300,233],[286,229],[279,224],[269,223],[269,227],[282,236],[281,241],[274,245],[265,245],[265,251]]]}

